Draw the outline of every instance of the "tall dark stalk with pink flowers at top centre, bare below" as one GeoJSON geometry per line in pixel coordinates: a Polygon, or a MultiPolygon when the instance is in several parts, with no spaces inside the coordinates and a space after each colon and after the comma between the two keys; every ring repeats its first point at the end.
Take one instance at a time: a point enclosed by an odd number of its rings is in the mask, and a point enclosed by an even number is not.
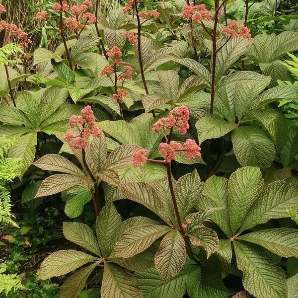
{"type": "MultiPolygon", "coordinates": [[[[139,58],[139,65],[140,65],[140,72],[141,72],[141,77],[143,81],[143,85],[146,91],[146,94],[149,94],[149,90],[147,87],[146,83],[146,78],[144,74],[144,65],[143,65],[143,58],[142,58],[142,44],[141,44],[141,28],[142,25],[151,17],[151,18],[158,18],[159,17],[159,12],[155,10],[149,10],[149,11],[139,11],[139,3],[142,0],[128,0],[126,6],[123,8],[123,11],[125,13],[130,12],[134,14],[137,17],[137,22],[138,22],[138,38],[134,39],[134,43],[138,42],[138,58],[139,58]],[[133,6],[135,12],[133,12],[133,6]],[[141,22],[141,18],[143,21],[141,22]]],[[[152,110],[153,117],[155,117],[154,110],[152,110]]]]}

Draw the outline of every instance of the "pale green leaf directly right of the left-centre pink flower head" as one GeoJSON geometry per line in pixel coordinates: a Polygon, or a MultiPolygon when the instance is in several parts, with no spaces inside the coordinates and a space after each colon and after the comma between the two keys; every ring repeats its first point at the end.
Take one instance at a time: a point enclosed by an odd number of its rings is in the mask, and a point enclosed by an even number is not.
{"type": "Polygon", "coordinates": [[[142,144],[136,126],[125,120],[101,121],[98,126],[122,144],[142,144]]]}

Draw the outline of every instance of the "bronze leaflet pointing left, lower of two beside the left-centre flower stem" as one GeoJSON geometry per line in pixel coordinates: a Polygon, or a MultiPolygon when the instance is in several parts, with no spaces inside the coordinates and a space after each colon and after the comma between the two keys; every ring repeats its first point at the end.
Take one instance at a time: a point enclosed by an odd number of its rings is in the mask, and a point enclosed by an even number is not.
{"type": "Polygon", "coordinates": [[[81,176],[69,174],[52,175],[42,181],[35,198],[54,195],[75,185],[80,185],[83,183],[86,184],[87,180],[83,179],[81,176]]]}

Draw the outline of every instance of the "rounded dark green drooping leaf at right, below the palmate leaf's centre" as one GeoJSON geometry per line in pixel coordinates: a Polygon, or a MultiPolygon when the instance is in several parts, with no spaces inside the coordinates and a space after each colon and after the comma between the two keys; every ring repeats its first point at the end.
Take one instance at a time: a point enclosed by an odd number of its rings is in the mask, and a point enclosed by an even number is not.
{"type": "Polygon", "coordinates": [[[267,133],[257,127],[238,127],[232,132],[232,143],[241,166],[259,166],[267,169],[276,155],[273,141],[267,133]]]}

